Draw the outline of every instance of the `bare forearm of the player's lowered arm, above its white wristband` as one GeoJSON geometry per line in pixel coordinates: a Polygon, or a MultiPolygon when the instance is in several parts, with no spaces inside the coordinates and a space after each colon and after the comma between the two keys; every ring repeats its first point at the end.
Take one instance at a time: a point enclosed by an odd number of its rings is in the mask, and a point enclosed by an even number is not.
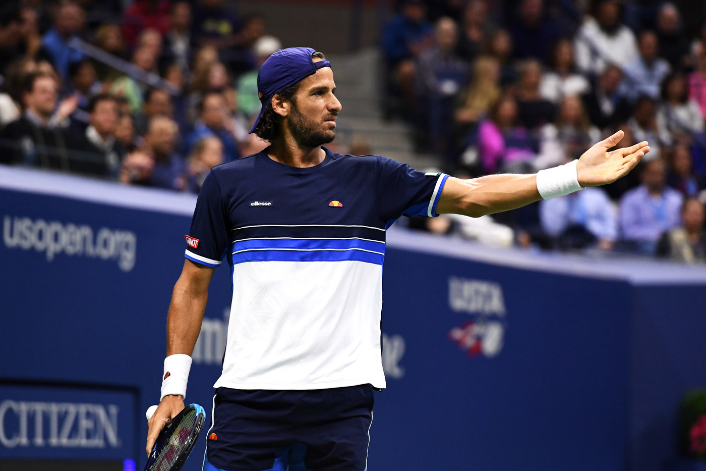
{"type": "Polygon", "coordinates": [[[193,286],[189,286],[181,278],[174,285],[172,303],[167,315],[167,356],[191,356],[201,332],[207,299],[208,289],[193,289],[193,286]]]}

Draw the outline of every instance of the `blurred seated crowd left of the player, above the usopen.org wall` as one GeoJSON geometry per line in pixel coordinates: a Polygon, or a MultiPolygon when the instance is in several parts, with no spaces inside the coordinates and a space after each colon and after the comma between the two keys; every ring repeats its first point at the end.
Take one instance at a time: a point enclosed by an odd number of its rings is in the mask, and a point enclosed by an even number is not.
{"type": "Polygon", "coordinates": [[[282,47],[222,0],[0,8],[0,163],[198,192],[256,153],[257,70],[282,47]]]}

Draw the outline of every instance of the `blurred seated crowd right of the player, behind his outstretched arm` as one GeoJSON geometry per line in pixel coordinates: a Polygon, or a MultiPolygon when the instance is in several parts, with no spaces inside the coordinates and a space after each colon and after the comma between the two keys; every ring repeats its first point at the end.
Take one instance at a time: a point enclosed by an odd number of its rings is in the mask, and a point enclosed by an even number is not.
{"type": "Polygon", "coordinates": [[[413,227],[527,248],[706,262],[706,4],[405,0],[383,30],[383,107],[452,175],[534,173],[622,129],[628,178],[413,227]]]}

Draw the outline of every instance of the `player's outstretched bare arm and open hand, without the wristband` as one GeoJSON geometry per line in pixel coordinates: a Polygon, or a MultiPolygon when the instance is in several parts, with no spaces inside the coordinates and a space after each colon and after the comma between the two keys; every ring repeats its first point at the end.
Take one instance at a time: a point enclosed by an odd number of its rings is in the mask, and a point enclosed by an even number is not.
{"type": "MultiPolygon", "coordinates": [[[[575,178],[581,187],[597,187],[612,183],[633,170],[645,153],[650,151],[647,142],[609,152],[623,139],[618,131],[583,153],[576,165],[575,178]]],[[[554,169],[542,170],[546,178],[554,169]]],[[[566,172],[565,172],[566,173],[566,172]]],[[[561,182],[560,182],[561,183],[561,182]]],[[[545,197],[551,197],[551,195],[545,197]]],[[[537,189],[537,175],[486,175],[484,177],[460,180],[449,177],[436,206],[438,214],[455,213],[478,217],[515,209],[542,199],[537,189]]]]}

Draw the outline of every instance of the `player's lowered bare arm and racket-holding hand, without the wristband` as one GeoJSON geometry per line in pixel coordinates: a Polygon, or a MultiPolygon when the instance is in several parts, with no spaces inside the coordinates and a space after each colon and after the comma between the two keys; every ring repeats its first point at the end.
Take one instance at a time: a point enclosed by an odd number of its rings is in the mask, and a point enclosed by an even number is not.
{"type": "MultiPolygon", "coordinates": [[[[208,299],[208,284],[214,271],[215,268],[184,260],[184,269],[177,284],[174,285],[172,303],[169,304],[169,314],[167,314],[167,356],[177,354],[191,356],[193,353],[196,339],[201,332],[203,311],[208,299]]],[[[185,384],[186,378],[184,378],[185,384]]],[[[170,392],[164,392],[164,394],[167,395],[162,398],[157,410],[148,421],[148,455],[167,421],[184,409],[183,396],[170,392]]]]}

